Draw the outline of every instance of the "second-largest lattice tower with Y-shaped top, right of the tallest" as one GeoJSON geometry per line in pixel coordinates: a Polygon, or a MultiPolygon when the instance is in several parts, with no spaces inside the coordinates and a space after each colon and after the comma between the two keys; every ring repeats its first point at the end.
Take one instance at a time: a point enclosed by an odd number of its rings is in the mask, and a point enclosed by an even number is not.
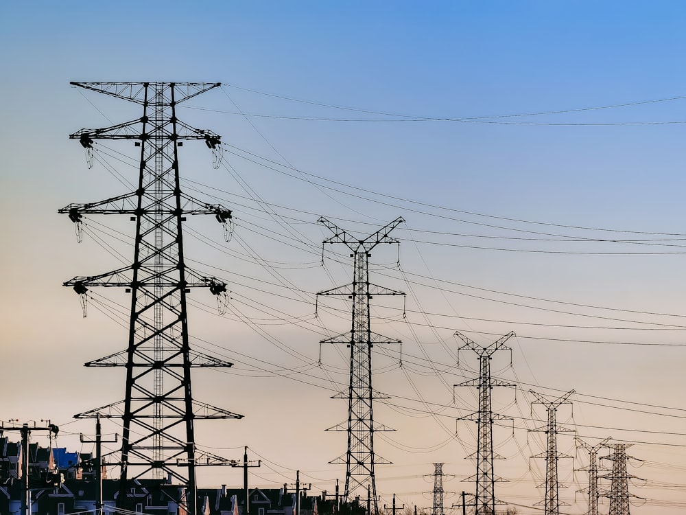
{"type": "Polygon", "coordinates": [[[360,240],[329,222],[326,218],[318,220],[320,224],[333,233],[331,238],[324,240],[324,244],[342,243],[346,245],[352,252],[351,258],[353,258],[354,266],[351,284],[331,288],[331,290],[317,294],[344,295],[351,299],[353,306],[351,330],[321,341],[321,343],[346,343],[350,347],[348,393],[341,392],[338,396],[334,396],[334,398],[348,399],[348,420],[327,430],[347,431],[348,450],[345,455],[331,461],[331,463],[346,464],[344,499],[351,501],[355,497],[355,493],[361,495],[370,491],[375,514],[379,513],[379,506],[374,466],[375,464],[389,464],[390,461],[376,457],[374,433],[393,430],[381,424],[375,424],[372,417],[372,401],[382,398],[377,396],[372,389],[372,347],[375,343],[400,342],[372,332],[370,329],[369,301],[374,295],[405,294],[369,282],[369,256],[372,249],[380,243],[399,244],[399,241],[391,238],[389,233],[404,221],[403,218],[397,218],[364,240],[360,240]]]}

